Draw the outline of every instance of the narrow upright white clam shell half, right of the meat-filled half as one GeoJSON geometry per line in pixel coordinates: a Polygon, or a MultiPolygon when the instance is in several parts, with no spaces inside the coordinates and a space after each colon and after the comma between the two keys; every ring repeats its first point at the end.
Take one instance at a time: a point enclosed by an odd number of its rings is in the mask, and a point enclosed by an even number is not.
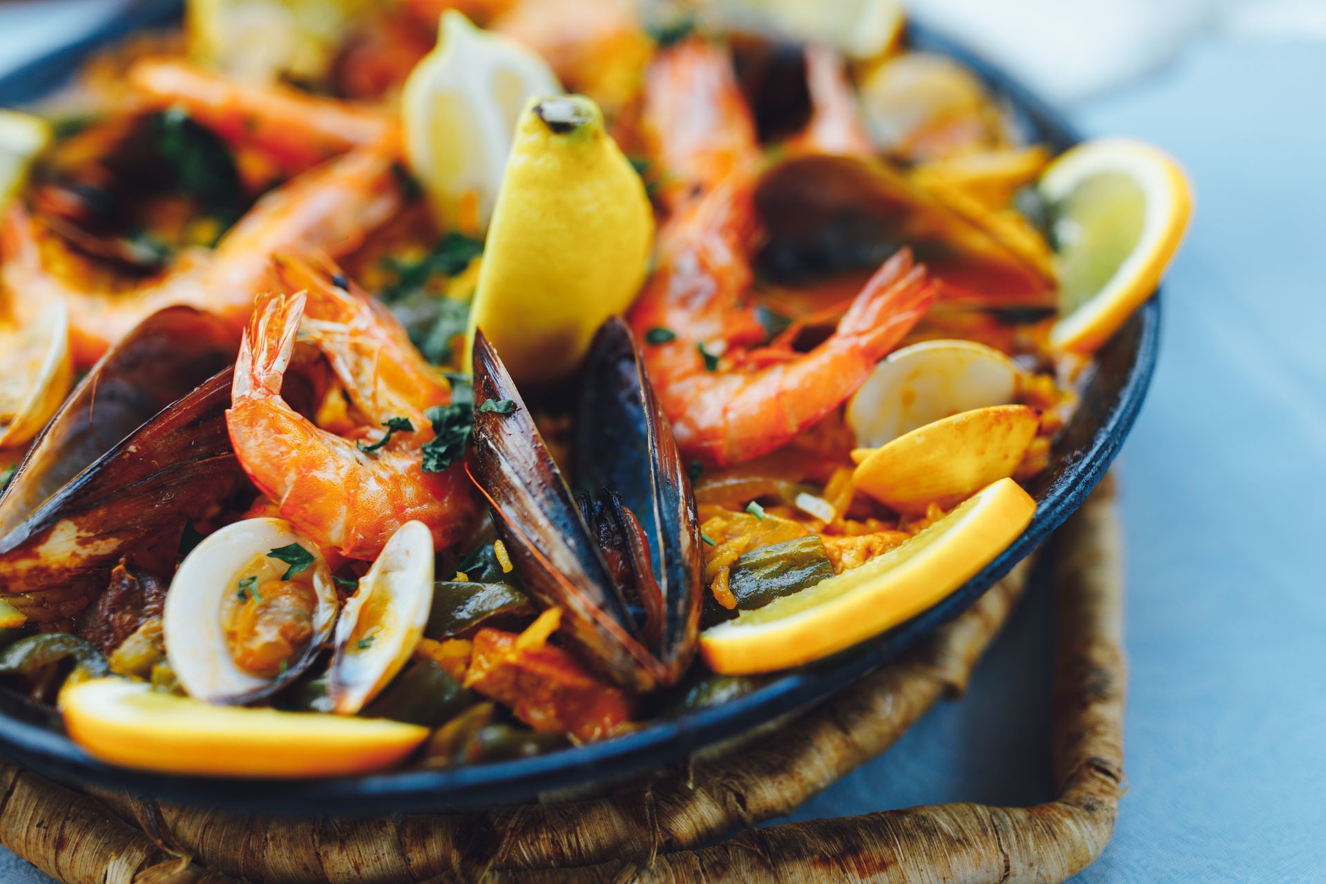
{"type": "Polygon", "coordinates": [[[359,578],[335,628],[328,683],[334,712],[359,712],[410,660],[432,607],[432,533],[406,522],[359,578]]]}

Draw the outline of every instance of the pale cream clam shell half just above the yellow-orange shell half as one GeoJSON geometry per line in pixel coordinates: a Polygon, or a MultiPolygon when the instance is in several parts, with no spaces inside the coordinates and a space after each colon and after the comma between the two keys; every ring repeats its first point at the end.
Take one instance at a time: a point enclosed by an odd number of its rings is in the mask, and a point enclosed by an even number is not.
{"type": "Polygon", "coordinates": [[[923,341],[891,353],[847,403],[862,448],[878,448],[944,417],[1017,399],[1020,372],[973,341],[923,341]]]}

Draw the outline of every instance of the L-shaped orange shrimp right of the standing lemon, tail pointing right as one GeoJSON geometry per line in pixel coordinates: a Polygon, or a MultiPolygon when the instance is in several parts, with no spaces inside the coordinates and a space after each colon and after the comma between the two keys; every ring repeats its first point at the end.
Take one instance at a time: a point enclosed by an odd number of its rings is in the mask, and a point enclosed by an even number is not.
{"type": "Polygon", "coordinates": [[[749,266],[758,144],[727,53],[688,41],[646,86],[646,134],[674,184],[660,265],[631,314],[650,378],[682,451],[711,465],[781,448],[865,382],[934,301],[908,252],[887,261],[810,353],[764,342],[749,266]]]}

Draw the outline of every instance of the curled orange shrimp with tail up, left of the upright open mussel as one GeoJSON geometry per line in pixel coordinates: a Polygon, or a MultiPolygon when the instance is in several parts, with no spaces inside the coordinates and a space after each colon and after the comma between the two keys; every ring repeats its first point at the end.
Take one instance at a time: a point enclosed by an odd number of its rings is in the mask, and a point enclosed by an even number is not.
{"type": "Polygon", "coordinates": [[[431,529],[438,549],[450,546],[477,508],[459,463],[423,470],[420,449],[434,439],[424,410],[451,402],[447,380],[339,274],[282,260],[277,276],[284,289],[304,290],[260,296],[240,346],[225,419],[244,470],[282,518],[349,558],[375,558],[411,520],[431,529]],[[322,429],[281,398],[297,334],[326,357],[365,421],[357,431],[322,429]],[[412,429],[385,439],[382,427],[402,417],[412,429]]]}

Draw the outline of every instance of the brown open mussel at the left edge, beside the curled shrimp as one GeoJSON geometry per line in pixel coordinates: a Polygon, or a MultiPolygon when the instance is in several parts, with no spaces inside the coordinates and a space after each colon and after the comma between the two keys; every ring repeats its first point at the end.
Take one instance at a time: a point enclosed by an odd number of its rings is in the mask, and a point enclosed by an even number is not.
{"type": "Polygon", "coordinates": [[[178,539],[237,488],[225,432],[236,347],[211,314],[167,307],[56,412],[0,494],[0,594],[29,619],[68,623],[121,558],[178,539]]]}

